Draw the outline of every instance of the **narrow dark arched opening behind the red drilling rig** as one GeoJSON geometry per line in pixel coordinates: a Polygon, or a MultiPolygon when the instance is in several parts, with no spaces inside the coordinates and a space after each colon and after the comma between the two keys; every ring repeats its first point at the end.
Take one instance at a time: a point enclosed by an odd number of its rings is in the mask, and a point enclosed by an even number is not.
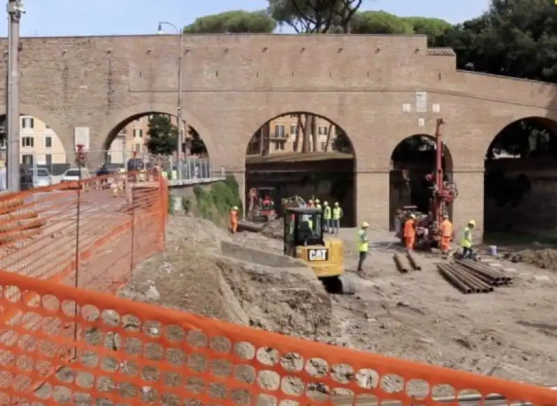
{"type": "MultiPolygon", "coordinates": [[[[395,213],[402,206],[416,206],[421,213],[430,211],[432,190],[426,177],[434,174],[437,162],[437,146],[433,136],[415,134],[400,141],[391,154],[389,174],[390,229],[395,229],[395,213]]],[[[443,144],[441,169],[444,180],[452,181],[453,158],[443,144]]],[[[453,218],[453,206],[448,205],[448,215],[453,218]]]]}

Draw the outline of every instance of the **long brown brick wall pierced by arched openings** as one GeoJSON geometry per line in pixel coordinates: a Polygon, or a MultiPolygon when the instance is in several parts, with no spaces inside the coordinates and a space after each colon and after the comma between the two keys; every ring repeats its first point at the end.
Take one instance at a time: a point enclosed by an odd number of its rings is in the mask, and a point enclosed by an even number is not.
{"type": "MultiPolygon", "coordinates": [[[[434,131],[432,104],[448,123],[457,223],[483,217],[483,159],[496,133],[521,117],[557,118],[555,86],[459,72],[454,54],[428,50],[423,36],[187,35],[180,52],[183,115],[215,167],[243,181],[246,146],[264,122],[292,111],[322,115],[356,149],[359,219],[382,228],[391,152],[434,131]],[[427,92],[427,113],[416,113],[418,91],[427,92]]],[[[26,38],[20,60],[22,113],[47,122],[68,151],[74,127],[89,127],[91,150],[100,151],[132,115],[175,114],[176,36],[26,38]]]]}

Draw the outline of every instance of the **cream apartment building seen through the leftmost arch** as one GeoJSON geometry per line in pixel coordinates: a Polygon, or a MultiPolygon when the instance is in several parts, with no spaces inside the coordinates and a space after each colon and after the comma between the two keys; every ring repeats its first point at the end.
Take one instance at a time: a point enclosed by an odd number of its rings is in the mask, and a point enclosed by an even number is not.
{"type": "MultiPolygon", "coordinates": [[[[0,159],[6,159],[6,122],[0,126],[0,159]]],[[[19,118],[19,163],[52,165],[65,163],[66,154],[56,133],[36,117],[22,115],[19,118]]]]}

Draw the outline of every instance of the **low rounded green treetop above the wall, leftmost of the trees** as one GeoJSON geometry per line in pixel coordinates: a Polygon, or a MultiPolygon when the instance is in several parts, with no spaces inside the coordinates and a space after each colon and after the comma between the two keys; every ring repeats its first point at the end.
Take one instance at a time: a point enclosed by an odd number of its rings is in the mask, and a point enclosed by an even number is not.
{"type": "Polygon", "coordinates": [[[276,22],[263,11],[226,11],[199,17],[186,26],[185,33],[272,33],[276,22]]]}

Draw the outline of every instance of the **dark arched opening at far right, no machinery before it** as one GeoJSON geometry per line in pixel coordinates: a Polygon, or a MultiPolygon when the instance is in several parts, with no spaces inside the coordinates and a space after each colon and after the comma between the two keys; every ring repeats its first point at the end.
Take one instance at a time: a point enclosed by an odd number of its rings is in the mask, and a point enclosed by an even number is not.
{"type": "Polygon", "coordinates": [[[485,156],[485,238],[554,237],[556,133],[557,122],[526,117],[492,140],[485,156]]]}

